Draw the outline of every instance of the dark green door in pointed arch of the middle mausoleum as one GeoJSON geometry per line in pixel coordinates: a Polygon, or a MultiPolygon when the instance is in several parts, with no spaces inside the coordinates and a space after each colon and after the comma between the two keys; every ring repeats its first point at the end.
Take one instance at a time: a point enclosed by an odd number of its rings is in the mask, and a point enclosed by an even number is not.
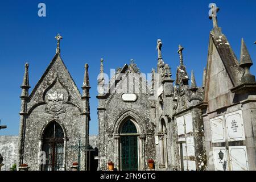
{"type": "Polygon", "coordinates": [[[121,168],[124,171],[138,170],[138,131],[127,120],[121,128],[121,168]]]}

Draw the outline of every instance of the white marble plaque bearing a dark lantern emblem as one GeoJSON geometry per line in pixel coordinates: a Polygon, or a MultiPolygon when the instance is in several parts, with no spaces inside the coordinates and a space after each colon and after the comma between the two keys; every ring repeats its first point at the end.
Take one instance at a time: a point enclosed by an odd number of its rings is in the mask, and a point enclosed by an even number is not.
{"type": "Polygon", "coordinates": [[[213,147],[213,160],[216,171],[228,171],[228,155],[226,154],[226,147],[213,147]],[[223,158],[221,159],[220,156],[223,156],[223,158]]]}

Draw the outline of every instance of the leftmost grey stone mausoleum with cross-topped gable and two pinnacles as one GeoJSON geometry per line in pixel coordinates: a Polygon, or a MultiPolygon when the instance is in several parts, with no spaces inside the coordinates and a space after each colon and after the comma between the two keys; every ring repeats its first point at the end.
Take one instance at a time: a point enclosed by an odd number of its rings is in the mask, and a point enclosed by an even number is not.
{"type": "Polygon", "coordinates": [[[56,39],[56,54],[31,94],[28,94],[28,64],[25,64],[18,164],[28,164],[31,170],[63,171],[79,160],[81,170],[85,170],[87,152],[82,150],[79,154],[75,146],[77,142],[86,148],[89,145],[88,64],[81,94],[60,57],[62,37],[57,35],[56,39]],[[45,164],[40,163],[44,156],[45,164]]]}

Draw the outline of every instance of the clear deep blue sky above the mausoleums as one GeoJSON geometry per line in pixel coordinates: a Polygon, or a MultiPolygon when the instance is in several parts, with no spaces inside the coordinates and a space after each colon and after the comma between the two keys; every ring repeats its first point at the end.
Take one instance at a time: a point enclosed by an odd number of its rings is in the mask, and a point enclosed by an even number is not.
{"type": "MultiPolygon", "coordinates": [[[[143,73],[157,64],[156,40],[162,39],[163,59],[175,78],[184,47],[184,64],[194,70],[201,85],[207,64],[208,5],[213,1],[1,1],[0,4],[0,119],[7,129],[0,135],[18,135],[20,88],[24,63],[30,63],[30,92],[55,55],[55,36],[60,33],[61,57],[81,88],[84,64],[89,64],[90,134],[98,133],[97,75],[100,59],[104,69],[122,67],[134,59],[143,73]],[[46,17],[38,16],[38,4],[46,3],[46,17]]],[[[220,11],[218,25],[228,37],[238,59],[241,38],[256,63],[256,1],[214,1],[220,11]]],[[[251,67],[256,75],[256,65],[251,67]]],[[[81,89],[80,89],[81,91],[81,89]]]]}

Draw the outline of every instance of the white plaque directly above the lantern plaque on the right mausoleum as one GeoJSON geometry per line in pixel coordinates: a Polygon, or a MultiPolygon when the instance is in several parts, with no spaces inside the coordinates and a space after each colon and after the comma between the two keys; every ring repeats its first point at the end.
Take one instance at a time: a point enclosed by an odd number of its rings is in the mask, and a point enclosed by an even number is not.
{"type": "Polygon", "coordinates": [[[212,131],[212,142],[225,142],[223,116],[210,119],[210,130],[212,131]]]}

